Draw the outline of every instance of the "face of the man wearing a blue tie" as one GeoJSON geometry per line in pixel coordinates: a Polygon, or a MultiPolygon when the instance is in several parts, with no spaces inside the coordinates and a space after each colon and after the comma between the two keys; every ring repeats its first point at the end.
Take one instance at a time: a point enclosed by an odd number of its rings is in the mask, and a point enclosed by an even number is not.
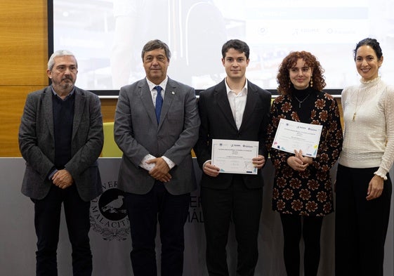
{"type": "Polygon", "coordinates": [[[143,56],[143,65],[147,79],[154,84],[160,84],[166,79],[169,63],[164,49],[157,48],[146,52],[143,56]]]}

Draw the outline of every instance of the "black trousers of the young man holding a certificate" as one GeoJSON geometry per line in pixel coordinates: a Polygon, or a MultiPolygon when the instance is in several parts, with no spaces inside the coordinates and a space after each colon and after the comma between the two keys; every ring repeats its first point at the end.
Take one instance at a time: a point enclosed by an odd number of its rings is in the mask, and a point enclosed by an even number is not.
{"type": "Polygon", "coordinates": [[[258,228],[263,188],[248,189],[242,176],[235,176],[230,188],[201,189],[206,236],[206,266],[210,276],[228,276],[226,244],[230,220],[237,239],[237,276],[252,276],[258,261],[258,228]]]}

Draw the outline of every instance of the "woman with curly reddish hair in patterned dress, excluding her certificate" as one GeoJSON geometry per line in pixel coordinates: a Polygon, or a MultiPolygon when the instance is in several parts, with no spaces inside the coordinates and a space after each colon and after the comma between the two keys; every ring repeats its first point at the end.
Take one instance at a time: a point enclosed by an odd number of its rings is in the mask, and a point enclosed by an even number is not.
{"type": "Polygon", "coordinates": [[[277,74],[280,96],[270,112],[267,147],[275,167],[272,209],[280,213],[284,264],[288,276],[300,275],[301,236],[305,244],[304,275],[316,276],[324,216],[333,211],[329,172],[341,152],[342,129],[336,100],[323,93],[324,70],[314,55],[291,52],[277,74]],[[280,119],[322,125],[315,158],[271,148],[280,119]]]}

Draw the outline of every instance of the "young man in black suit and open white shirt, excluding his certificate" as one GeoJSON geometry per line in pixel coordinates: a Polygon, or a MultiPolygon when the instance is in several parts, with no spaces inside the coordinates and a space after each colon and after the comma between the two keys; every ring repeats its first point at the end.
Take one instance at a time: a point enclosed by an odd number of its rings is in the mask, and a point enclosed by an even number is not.
{"type": "Polygon", "coordinates": [[[229,275],[225,247],[230,218],[238,244],[237,275],[254,275],[258,259],[258,226],[263,200],[261,168],[267,159],[264,141],[271,95],[245,77],[249,46],[238,39],[222,48],[226,77],[199,95],[201,118],[195,153],[204,172],[201,200],[209,275],[229,275]],[[258,141],[256,175],[219,173],[211,164],[212,139],[258,141]]]}

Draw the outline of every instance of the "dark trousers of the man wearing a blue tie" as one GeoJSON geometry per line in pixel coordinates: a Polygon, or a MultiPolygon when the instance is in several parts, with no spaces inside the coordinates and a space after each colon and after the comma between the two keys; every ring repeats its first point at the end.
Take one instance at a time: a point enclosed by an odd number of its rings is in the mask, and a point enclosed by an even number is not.
{"type": "Polygon", "coordinates": [[[180,276],[183,273],[183,227],[188,218],[190,193],[171,195],[164,185],[156,181],[145,195],[125,193],[124,203],[133,245],[130,258],[135,276],[157,276],[157,221],[162,242],[162,276],[180,276]]]}

